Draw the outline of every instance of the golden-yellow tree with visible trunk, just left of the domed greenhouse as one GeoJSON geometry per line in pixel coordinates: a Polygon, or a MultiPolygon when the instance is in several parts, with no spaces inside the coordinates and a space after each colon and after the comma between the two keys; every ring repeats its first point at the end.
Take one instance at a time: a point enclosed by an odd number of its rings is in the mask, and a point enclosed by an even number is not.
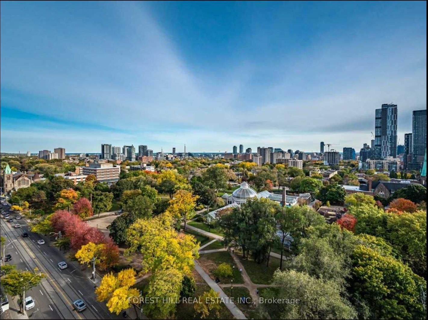
{"type": "Polygon", "coordinates": [[[192,195],[192,192],[187,190],[178,190],[174,193],[174,197],[169,201],[167,211],[175,218],[184,221],[184,230],[186,230],[187,220],[195,215],[197,195],[192,195]]]}

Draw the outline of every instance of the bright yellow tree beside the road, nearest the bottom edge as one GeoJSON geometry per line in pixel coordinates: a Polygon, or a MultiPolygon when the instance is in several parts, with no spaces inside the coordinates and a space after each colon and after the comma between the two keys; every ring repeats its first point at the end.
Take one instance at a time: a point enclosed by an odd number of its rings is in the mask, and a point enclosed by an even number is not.
{"type": "Polygon", "coordinates": [[[95,290],[97,300],[100,302],[107,300],[107,308],[110,312],[119,314],[122,310],[128,309],[133,297],[140,297],[137,289],[131,288],[135,284],[135,271],[125,269],[114,276],[108,273],[101,279],[100,286],[95,290]]]}

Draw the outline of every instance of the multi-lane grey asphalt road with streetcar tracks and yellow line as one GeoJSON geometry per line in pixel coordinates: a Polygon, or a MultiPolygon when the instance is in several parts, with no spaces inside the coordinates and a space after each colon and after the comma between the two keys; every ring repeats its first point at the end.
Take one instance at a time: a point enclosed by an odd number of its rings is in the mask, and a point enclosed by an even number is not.
{"type": "MultiPolygon", "coordinates": [[[[9,211],[7,204],[2,204],[2,209],[9,211]]],[[[14,217],[15,214],[10,215],[14,217]]],[[[29,317],[35,319],[121,319],[122,317],[111,314],[105,303],[99,303],[95,297],[95,284],[88,279],[79,267],[67,261],[57,248],[52,247],[48,238],[31,233],[27,221],[22,218],[9,223],[1,220],[1,235],[6,238],[6,254],[12,256],[12,260],[6,264],[16,265],[21,270],[33,270],[38,268],[45,274],[41,284],[31,288],[25,293],[31,296],[36,306],[27,311],[29,317]],[[20,228],[14,228],[14,224],[20,224],[20,228]],[[22,233],[29,236],[23,238],[22,233]],[[44,239],[45,244],[37,244],[37,240],[44,239]],[[14,241],[15,240],[15,241],[14,241]],[[60,270],[58,262],[65,261],[68,268],[60,270]],[[82,299],[86,310],[77,312],[73,308],[73,301],[82,299]]],[[[2,314],[3,318],[3,314],[2,314]]]]}

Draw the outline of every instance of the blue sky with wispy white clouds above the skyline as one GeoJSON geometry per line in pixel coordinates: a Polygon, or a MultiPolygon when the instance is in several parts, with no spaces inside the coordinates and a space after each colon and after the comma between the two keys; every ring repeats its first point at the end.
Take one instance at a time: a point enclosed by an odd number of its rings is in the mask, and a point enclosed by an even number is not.
{"type": "Polygon", "coordinates": [[[426,109],[426,3],[1,2],[1,151],[370,143],[426,109]]]}

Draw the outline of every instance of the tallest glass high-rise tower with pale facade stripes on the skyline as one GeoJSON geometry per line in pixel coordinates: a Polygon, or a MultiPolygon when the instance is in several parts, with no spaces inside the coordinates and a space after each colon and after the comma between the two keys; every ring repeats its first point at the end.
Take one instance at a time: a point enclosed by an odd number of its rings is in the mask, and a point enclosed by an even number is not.
{"type": "Polygon", "coordinates": [[[397,105],[383,104],[375,111],[375,156],[397,157],[397,105]]]}

